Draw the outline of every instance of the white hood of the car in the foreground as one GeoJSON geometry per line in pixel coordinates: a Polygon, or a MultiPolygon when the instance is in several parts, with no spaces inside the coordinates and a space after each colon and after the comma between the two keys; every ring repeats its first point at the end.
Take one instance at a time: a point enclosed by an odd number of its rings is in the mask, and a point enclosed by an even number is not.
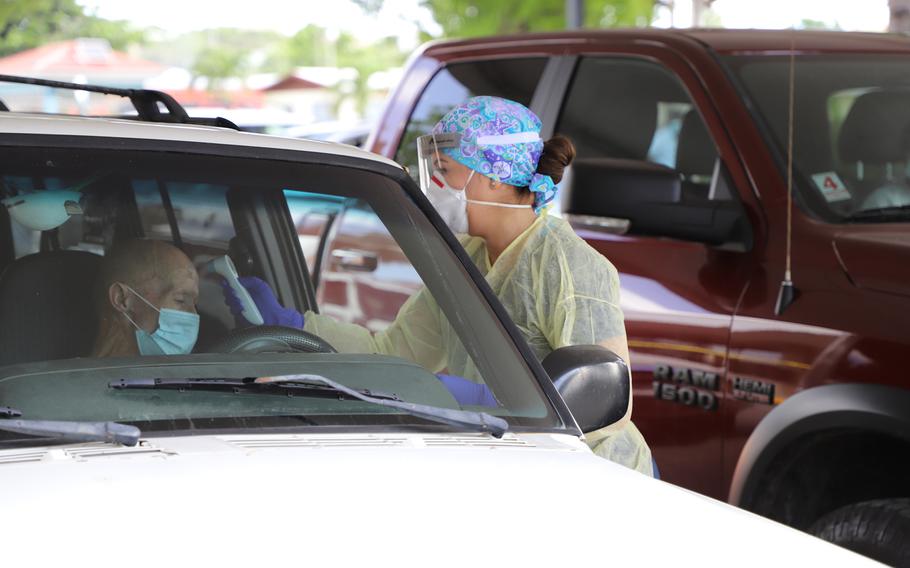
{"type": "Polygon", "coordinates": [[[11,565],[868,562],[564,435],[195,436],[6,450],[0,487],[11,565]]]}

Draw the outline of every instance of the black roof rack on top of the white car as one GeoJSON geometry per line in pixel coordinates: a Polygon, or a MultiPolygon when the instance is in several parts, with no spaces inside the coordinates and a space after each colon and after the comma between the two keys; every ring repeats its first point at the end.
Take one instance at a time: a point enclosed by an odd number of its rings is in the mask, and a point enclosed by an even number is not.
{"type": "MultiPolygon", "coordinates": [[[[67,83],[65,81],[52,81],[50,79],[36,79],[34,77],[20,77],[18,75],[0,74],[0,83],[21,83],[25,85],[37,85],[39,87],[51,87],[55,89],[68,89],[72,91],[89,91],[92,93],[102,93],[105,95],[116,95],[125,97],[133,104],[139,120],[146,122],[169,122],[177,124],[202,124],[207,126],[221,126],[225,128],[240,128],[230,120],[222,117],[203,118],[191,117],[187,114],[177,100],[167,93],[155,91],[152,89],[121,89],[117,87],[103,87],[100,85],[81,85],[79,83],[67,83]],[[159,106],[160,105],[160,106],[159,106]],[[161,106],[167,112],[162,112],[161,106]]],[[[0,101],[0,112],[9,111],[9,107],[0,101]]],[[[132,118],[132,117],[119,117],[132,118]]]]}

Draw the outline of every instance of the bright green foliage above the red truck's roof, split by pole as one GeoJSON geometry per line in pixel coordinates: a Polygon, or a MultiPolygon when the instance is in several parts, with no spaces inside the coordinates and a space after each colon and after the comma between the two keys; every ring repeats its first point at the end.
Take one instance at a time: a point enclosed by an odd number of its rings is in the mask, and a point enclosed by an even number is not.
{"type": "MultiPolygon", "coordinates": [[[[421,0],[446,37],[471,37],[565,29],[563,0],[421,0]]],[[[654,0],[585,0],[590,28],[646,26],[654,0]]]]}

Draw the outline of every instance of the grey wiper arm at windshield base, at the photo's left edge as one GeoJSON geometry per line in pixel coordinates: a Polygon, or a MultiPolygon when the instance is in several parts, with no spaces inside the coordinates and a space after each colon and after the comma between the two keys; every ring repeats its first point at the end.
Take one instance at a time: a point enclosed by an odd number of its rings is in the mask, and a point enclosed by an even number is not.
{"type": "Polygon", "coordinates": [[[142,432],[135,426],[117,422],[74,422],[62,420],[21,420],[15,408],[0,407],[0,430],[72,440],[74,442],[108,442],[135,446],[142,432]]]}

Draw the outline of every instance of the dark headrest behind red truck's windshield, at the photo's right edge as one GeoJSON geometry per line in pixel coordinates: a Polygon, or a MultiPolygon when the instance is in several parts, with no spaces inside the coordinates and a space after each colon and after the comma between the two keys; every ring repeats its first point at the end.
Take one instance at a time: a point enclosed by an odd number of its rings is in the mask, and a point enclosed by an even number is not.
{"type": "Polygon", "coordinates": [[[856,98],[838,138],[844,162],[887,164],[907,159],[910,91],[872,91],[856,98]]]}

